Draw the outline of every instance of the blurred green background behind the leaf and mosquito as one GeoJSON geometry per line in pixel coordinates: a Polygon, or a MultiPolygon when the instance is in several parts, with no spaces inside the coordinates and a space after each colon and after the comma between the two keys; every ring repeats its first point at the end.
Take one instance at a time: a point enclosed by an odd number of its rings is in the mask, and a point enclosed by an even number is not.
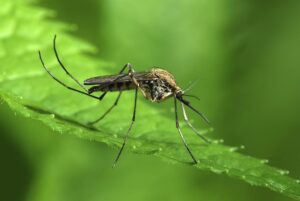
{"type": "MultiPolygon", "coordinates": [[[[41,0],[97,57],[160,66],[191,90],[214,138],[300,178],[300,2],[41,0]]],[[[83,64],[84,65],[84,64],[83,64]]],[[[170,105],[166,105],[166,109],[170,105]]],[[[155,107],[155,105],[154,105],[155,107]]],[[[1,110],[0,200],[290,200],[267,189],[58,135],[1,110]]],[[[193,116],[196,119],[196,116],[193,116]]],[[[196,121],[197,122],[197,121],[196,121]]]]}

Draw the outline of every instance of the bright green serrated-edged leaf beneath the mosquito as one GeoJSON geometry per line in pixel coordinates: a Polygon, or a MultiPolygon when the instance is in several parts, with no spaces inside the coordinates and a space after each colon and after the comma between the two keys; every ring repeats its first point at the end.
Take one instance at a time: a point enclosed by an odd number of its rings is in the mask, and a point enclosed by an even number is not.
{"type": "MultiPolygon", "coordinates": [[[[54,58],[52,38],[55,33],[59,36],[58,49],[63,62],[79,80],[114,74],[119,69],[112,69],[111,64],[85,54],[95,53],[95,48],[66,34],[71,27],[50,21],[49,16],[51,12],[34,8],[24,1],[1,1],[1,98],[14,112],[42,121],[61,134],[120,147],[130,125],[133,93],[124,93],[119,106],[96,129],[86,126],[87,122],[110,107],[116,94],[108,95],[99,103],[63,88],[42,68],[37,50],[42,51],[49,69],[60,80],[74,87],[75,83],[59,68],[54,58]]],[[[165,113],[157,108],[139,97],[137,121],[125,149],[152,154],[169,162],[188,164],[191,159],[181,143],[173,116],[169,117],[173,112],[165,113]]],[[[268,166],[266,160],[237,153],[239,148],[222,145],[219,141],[207,145],[185,124],[182,127],[193,153],[200,160],[194,167],[224,173],[300,200],[299,180],[287,176],[287,171],[268,166]]]]}

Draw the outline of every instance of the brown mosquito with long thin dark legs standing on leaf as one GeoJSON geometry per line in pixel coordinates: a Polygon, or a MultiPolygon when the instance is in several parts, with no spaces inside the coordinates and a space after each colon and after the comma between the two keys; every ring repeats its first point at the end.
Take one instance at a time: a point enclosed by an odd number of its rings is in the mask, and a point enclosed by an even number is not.
{"type": "Polygon", "coordinates": [[[147,72],[135,72],[132,65],[130,63],[127,63],[123,66],[119,74],[117,75],[105,75],[105,76],[97,76],[97,77],[92,77],[89,79],[86,79],[83,84],[81,84],[72,74],[69,73],[67,68],[64,66],[62,63],[58,52],[56,48],[56,35],[54,36],[53,39],[53,49],[54,49],[54,54],[56,56],[56,59],[60,65],[60,67],[65,71],[65,73],[73,79],[74,82],[77,83],[78,87],[81,88],[81,90],[70,87],[66,85],[63,81],[59,80],[57,77],[54,76],[52,72],[49,71],[49,69],[46,67],[42,54],[40,51],[39,53],[39,58],[41,60],[42,66],[44,69],[47,71],[47,73],[59,84],[64,86],[65,88],[75,91],[77,93],[86,95],[88,97],[97,99],[99,101],[103,100],[105,95],[108,92],[119,92],[115,102],[113,105],[105,112],[103,113],[98,119],[92,121],[89,123],[89,125],[94,125],[104,119],[107,114],[109,114],[114,107],[116,107],[119,103],[119,100],[121,98],[122,92],[123,91],[128,91],[128,90],[134,90],[135,95],[134,95],[134,109],[133,109],[133,114],[132,114],[132,119],[131,119],[131,124],[125,133],[124,139],[123,139],[123,144],[121,148],[119,149],[119,152],[114,160],[113,167],[117,164],[123,149],[128,141],[128,136],[130,134],[130,131],[134,125],[134,122],[136,120],[136,110],[137,110],[137,96],[138,96],[138,91],[141,91],[143,96],[153,102],[153,103],[160,103],[162,101],[165,101],[169,98],[173,98],[174,100],[174,108],[175,108],[175,122],[176,122],[176,128],[179,132],[179,135],[181,137],[181,140],[189,153],[191,159],[193,160],[194,164],[197,164],[198,161],[196,160],[194,154],[192,153],[191,149],[189,148],[183,132],[179,126],[179,118],[178,118],[178,106],[177,102],[179,101],[181,104],[181,109],[183,112],[183,117],[186,122],[186,124],[194,131],[195,134],[197,134],[202,140],[204,140],[206,143],[210,143],[209,140],[207,140],[199,131],[196,130],[196,128],[191,124],[189,121],[189,118],[187,116],[187,112],[185,110],[185,106],[194,111],[196,114],[198,114],[207,124],[209,123],[209,120],[204,116],[203,113],[195,109],[189,101],[184,99],[185,96],[190,96],[190,97],[195,97],[191,95],[186,95],[185,91],[182,90],[177,84],[174,76],[169,73],[168,71],[161,69],[161,68],[152,68],[150,71],[147,72]],[[125,70],[127,70],[127,73],[125,73],[125,70]],[[85,86],[90,86],[89,89],[87,89],[85,86]],[[95,92],[103,92],[102,95],[96,96],[94,95],[95,92]]]}

